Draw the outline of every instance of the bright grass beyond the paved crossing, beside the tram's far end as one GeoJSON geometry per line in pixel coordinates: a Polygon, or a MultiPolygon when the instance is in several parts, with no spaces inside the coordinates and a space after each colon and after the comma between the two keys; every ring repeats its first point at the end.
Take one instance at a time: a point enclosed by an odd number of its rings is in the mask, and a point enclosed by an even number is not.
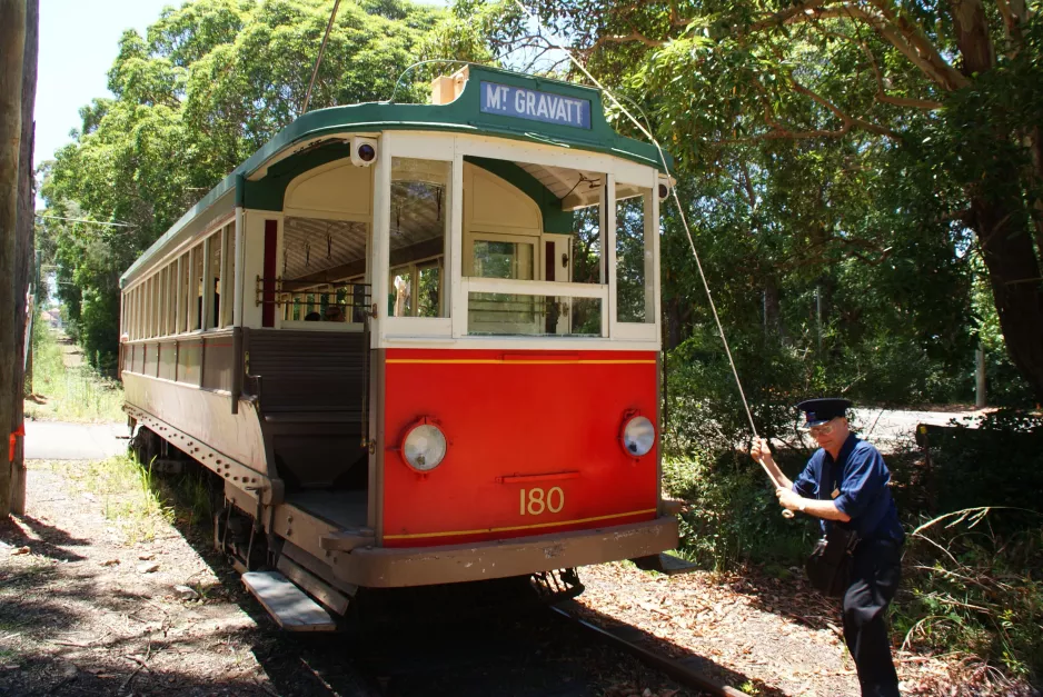
{"type": "MultiPolygon", "coordinates": [[[[26,417],[59,421],[122,421],[122,386],[101,377],[86,361],[67,366],[63,335],[34,322],[32,331],[32,389],[26,417]]],[[[68,345],[67,345],[68,346],[68,345]]],[[[71,355],[71,354],[70,354],[71,355]]]]}

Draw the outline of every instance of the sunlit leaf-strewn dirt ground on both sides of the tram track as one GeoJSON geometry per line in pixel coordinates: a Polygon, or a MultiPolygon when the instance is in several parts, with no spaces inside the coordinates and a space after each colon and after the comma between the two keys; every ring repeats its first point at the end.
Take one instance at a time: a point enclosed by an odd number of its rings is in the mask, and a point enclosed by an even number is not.
{"type": "MultiPolygon", "coordinates": [[[[173,525],[169,509],[147,510],[155,501],[142,509],[99,488],[105,472],[87,462],[30,462],[30,512],[0,527],[0,694],[312,694],[274,675],[280,666],[265,653],[270,623],[206,541],[187,539],[192,528],[173,525]]],[[[588,618],[636,627],[656,650],[701,657],[733,687],[857,694],[835,604],[796,572],[665,577],[620,562],[583,569],[582,578],[578,604],[588,618]]],[[[905,694],[961,694],[940,687],[952,661],[897,658],[905,694]]],[[[672,694],[666,681],[642,679],[633,693],[602,694],[672,694]]]]}

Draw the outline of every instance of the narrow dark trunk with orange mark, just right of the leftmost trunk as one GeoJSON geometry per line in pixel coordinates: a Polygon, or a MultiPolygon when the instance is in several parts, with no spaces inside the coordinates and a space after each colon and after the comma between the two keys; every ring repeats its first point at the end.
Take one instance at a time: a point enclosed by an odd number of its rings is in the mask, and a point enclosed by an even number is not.
{"type": "MultiPolygon", "coordinates": [[[[36,279],[34,211],[32,150],[34,142],[33,106],[37,99],[37,57],[40,48],[40,0],[26,0],[26,52],[22,60],[22,135],[18,157],[18,219],[14,223],[14,388],[11,432],[26,429],[26,336],[29,327],[28,292],[36,279]]],[[[11,462],[11,512],[26,512],[26,439],[14,442],[11,462]]]]}

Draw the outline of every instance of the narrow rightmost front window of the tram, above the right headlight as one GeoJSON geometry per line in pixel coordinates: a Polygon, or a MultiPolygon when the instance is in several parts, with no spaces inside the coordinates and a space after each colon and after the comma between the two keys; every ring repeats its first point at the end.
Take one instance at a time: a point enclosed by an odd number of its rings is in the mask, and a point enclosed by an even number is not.
{"type": "Polygon", "coordinates": [[[652,190],[616,200],[616,320],[655,322],[653,280],[653,240],[646,233],[652,190]]]}

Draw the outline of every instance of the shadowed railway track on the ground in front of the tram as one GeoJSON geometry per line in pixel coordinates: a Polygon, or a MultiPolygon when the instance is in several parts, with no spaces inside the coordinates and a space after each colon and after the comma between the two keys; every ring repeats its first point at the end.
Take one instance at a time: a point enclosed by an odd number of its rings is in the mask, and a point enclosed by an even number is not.
{"type": "MultiPolygon", "coordinates": [[[[471,621],[406,623],[390,631],[269,635],[262,660],[280,697],[744,697],[697,657],[642,645],[638,629],[606,630],[570,603],[471,621]],[[350,658],[347,658],[350,656],[350,658]]],[[[256,653],[256,651],[255,651],[256,653]]]]}

